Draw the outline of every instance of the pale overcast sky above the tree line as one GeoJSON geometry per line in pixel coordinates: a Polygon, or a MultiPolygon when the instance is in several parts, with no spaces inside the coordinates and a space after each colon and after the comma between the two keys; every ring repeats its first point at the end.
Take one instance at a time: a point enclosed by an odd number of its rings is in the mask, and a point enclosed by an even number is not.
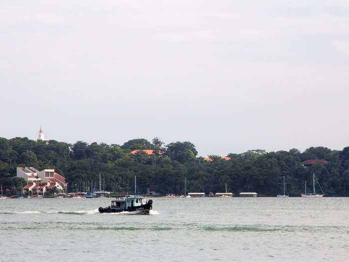
{"type": "Polygon", "coordinates": [[[1,0],[0,137],[349,145],[348,0],[1,0]]]}

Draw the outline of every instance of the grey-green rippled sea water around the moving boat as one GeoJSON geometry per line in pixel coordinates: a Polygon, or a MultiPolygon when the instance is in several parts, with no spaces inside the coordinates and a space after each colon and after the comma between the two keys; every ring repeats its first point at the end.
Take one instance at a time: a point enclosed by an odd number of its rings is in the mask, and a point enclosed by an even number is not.
{"type": "Polygon", "coordinates": [[[0,200],[0,261],[349,261],[349,198],[0,200]]]}

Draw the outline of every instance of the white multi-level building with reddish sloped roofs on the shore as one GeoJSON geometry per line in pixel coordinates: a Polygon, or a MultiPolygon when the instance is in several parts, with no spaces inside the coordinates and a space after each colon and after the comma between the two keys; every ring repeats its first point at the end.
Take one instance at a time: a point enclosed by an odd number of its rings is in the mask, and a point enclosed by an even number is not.
{"type": "Polygon", "coordinates": [[[38,171],[33,167],[17,167],[17,177],[27,182],[23,188],[24,196],[43,196],[53,187],[64,192],[68,187],[66,179],[54,172],[54,169],[38,171]]]}

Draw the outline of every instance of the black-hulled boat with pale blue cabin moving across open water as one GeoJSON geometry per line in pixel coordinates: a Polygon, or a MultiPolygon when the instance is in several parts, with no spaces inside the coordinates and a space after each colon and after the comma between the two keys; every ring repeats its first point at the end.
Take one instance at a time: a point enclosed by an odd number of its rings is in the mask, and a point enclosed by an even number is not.
{"type": "Polygon", "coordinates": [[[149,215],[153,209],[153,200],[146,201],[146,198],[139,196],[129,196],[126,198],[116,198],[112,200],[112,205],[107,208],[100,207],[99,213],[120,213],[131,212],[135,214],[149,215]]]}

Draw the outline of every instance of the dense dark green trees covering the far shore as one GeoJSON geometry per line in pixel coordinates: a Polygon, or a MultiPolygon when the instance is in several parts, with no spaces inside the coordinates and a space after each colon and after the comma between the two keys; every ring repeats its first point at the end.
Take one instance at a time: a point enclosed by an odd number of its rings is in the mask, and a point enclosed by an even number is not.
{"type": "Polygon", "coordinates": [[[123,145],[0,138],[3,190],[13,190],[24,183],[15,178],[17,166],[55,169],[67,178],[68,191],[74,191],[76,184],[97,181],[101,174],[105,190],[111,192],[133,192],[134,176],[137,176],[140,193],[152,187],[161,194],[183,194],[186,178],[187,192],[224,192],[226,183],[228,192],[235,195],[257,192],[262,196],[276,196],[283,192],[285,176],[286,193],[299,196],[304,192],[305,180],[310,182],[315,173],[326,196],[349,196],[349,147],[342,151],[310,147],[304,152],[258,149],[202,158],[197,157],[195,146],[190,142],[165,145],[159,138],[152,142],[133,139],[123,145]],[[306,160],[326,161],[302,165],[306,160]]]}

